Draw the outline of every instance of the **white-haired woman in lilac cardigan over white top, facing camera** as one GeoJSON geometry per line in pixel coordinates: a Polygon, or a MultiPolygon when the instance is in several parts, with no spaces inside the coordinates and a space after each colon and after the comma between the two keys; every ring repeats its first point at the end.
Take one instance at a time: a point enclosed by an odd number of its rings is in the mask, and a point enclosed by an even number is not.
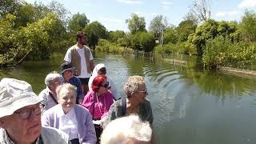
{"type": "Polygon", "coordinates": [[[62,130],[72,144],[96,143],[94,125],[86,108],[75,104],[76,87],[65,83],[57,89],[58,105],[42,116],[42,126],[62,130]]]}

